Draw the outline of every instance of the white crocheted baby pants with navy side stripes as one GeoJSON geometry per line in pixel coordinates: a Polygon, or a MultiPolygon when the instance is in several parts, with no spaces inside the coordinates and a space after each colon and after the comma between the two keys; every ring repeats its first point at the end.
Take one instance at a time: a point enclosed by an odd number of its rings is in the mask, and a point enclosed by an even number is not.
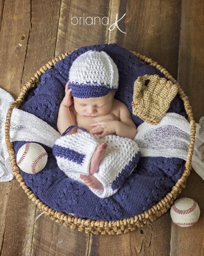
{"type": "MultiPolygon", "coordinates": [[[[66,133],[67,130],[64,134],[66,133]]],[[[84,183],[80,174],[89,174],[91,157],[102,142],[106,142],[108,147],[100,161],[98,172],[93,175],[104,189],[89,188],[99,198],[106,198],[118,191],[137,166],[140,152],[134,140],[118,135],[107,135],[99,139],[98,135],[83,131],[59,137],[53,146],[53,154],[59,169],[69,178],[84,183]]]]}

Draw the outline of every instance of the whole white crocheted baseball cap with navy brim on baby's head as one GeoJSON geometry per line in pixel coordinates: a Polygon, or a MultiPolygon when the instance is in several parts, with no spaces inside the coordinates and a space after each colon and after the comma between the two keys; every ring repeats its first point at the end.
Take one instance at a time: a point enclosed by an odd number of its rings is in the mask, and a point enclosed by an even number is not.
{"type": "Polygon", "coordinates": [[[118,90],[118,68],[104,51],[88,50],[74,60],[69,88],[77,98],[94,98],[118,90]]]}

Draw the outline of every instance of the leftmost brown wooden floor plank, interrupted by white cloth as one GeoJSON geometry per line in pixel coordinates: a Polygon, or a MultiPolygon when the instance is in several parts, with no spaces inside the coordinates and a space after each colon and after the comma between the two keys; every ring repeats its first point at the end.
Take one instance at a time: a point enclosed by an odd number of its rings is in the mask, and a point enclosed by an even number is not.
{"type": "MultiPolygon", "coordinates": [[[[1,1],[0,86],[15,98],[20,92],[26,54],[29,9],[30,4],[26,0],[1,1]]],[[[30,228],[29,223],[32,210],[28,210],[32,203],[28,202],[28,198],[15,180],[2,183],[1,191],[1,255],[25,254],[27,246],[31,246],[32,242],[32,227],[30,228]]]]}

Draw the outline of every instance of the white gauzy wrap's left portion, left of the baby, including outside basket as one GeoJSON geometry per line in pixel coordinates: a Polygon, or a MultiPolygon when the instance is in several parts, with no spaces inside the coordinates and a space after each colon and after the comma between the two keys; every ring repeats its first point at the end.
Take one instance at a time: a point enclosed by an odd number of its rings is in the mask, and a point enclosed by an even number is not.
{"type": "MultiPolygon", "coordinates": [[[[12,167],[9,161],[9,153],[5,142],[5,121],[9,105],[14,100],[9,92],[0,88],[0,182],[8,182],[13,178],[12,167]]],[[[10,140],[37,142],[53,147],[57,138],[60,137],[53,127],[34,114],[23,110],[13,109],[10,120],[10,140]],[[39,132],[40,127],[40,132],[39,132]]]]}

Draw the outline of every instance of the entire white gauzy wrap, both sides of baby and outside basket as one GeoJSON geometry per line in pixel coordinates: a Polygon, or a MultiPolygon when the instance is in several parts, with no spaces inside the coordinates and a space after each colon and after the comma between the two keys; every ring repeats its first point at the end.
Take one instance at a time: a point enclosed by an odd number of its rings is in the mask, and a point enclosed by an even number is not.
{"type": "MultiPolygon", "coordinates": [[[[0,182],[12,180],[9,154],[5,143],[4,126],[6,113],[12,96],[0,88],[0,182]]],[[[204,180],[204,117],[196,124],[196,137],[192,167],[204,180]]],[[[14,141],[38,142],[53,147],[60,134],[33,114],[14,109],[11,119],[10,138],[14,141]],[[40,127],[40,133],[39,133],[40,127]]],[[[143,122],[138,126],[135,137],[142,156],[164,156],[166,158],[187,159],[190,143],[190,124],[175,113],[167,113],[156,126],[143,122]]]]}

